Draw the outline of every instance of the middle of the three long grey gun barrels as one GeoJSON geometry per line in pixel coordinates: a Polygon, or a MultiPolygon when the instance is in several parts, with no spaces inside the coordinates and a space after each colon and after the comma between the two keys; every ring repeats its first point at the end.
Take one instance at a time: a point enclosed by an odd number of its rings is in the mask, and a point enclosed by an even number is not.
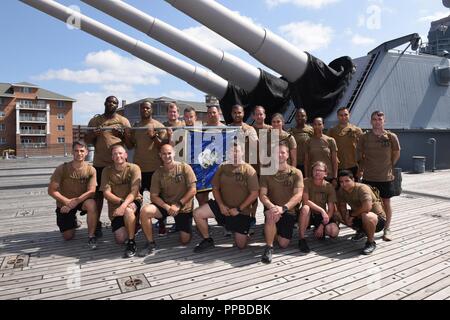
{"type": "Polygon", "coordinates": [[[253,90],[261,71],[236,56],[193,39],[183,31],[121,0],[81,0],[211,69],[245,90],[253,90]]]}

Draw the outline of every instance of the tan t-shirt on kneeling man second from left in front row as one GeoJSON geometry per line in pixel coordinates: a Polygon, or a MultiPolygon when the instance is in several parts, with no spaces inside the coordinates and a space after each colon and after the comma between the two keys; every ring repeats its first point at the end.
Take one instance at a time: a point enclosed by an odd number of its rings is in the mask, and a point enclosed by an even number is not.
{"type": "MultiPolygon", "coordinates": [[[[135,195],[136,201],[142,201],[139,193],[141,186],[141,169],[134,163],[127,163],[124,170],[119,171],[109,166],[102,171],[102,184],[100,191],[110,190],[115,196],[125,199],[130,193],[135,195]]],[[[113,220],[113,212],[120,205],[108,201],[109,219],[113,220]]]]}

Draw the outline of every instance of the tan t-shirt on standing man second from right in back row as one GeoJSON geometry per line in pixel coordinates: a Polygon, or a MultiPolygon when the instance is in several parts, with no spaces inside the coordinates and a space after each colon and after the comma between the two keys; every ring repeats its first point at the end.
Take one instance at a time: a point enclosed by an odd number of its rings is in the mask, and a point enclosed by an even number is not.
{"type": "Polygon", "coordinates": [[[361,128],[352,124],[338,124],[328,130],[327,135],[336,141],[338,147],[339,169],[350,169],[358,165],[356,147],[362,134],[361,128]]]}

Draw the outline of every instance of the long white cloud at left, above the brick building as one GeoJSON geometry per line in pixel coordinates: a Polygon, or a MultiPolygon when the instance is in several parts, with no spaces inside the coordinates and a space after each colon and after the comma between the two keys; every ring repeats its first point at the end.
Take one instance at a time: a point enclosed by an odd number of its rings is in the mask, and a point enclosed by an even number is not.
{"type": "Polygon", "coordinates": [[[59,69],[33,77],[35,80],[63,80],[82,84],[156,85],[164,71],[134,57],[111,50],[91,52],[83,70],[59,69]]]}

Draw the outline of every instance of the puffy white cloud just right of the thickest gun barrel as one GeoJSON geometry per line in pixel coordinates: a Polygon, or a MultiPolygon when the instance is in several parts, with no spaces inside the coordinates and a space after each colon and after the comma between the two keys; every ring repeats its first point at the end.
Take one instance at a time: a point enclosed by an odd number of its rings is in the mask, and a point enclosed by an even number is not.
{"type": "Polygon", "coordinates": [[[294,46],[304,51],[326,48],[334,34],[332,28],[309,21],[292,22],[278,28],[294,46]]]}

